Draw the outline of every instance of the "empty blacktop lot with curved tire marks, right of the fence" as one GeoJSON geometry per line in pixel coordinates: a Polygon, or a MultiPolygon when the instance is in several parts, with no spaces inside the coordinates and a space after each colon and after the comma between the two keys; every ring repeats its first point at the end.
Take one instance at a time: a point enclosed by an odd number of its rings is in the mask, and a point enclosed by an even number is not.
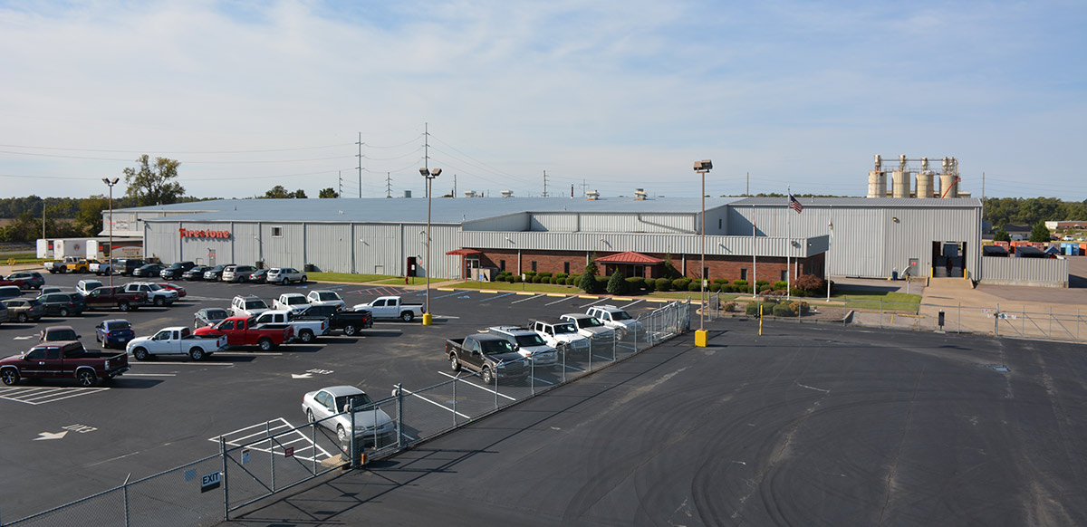
{"type": "Polygon", "coordinates": [[[230,525],[1087,525],[1087,349],[722,319],[230,525]]]}

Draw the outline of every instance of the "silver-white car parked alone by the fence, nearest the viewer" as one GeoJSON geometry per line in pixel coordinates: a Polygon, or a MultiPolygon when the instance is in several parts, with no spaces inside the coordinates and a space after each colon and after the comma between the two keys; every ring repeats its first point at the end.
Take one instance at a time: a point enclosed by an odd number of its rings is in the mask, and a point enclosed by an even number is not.
{"type": "Polygon", "coordinates": [[[353,386],[330,386],[302,396],[302,412],[310,423],[336,430],[341,443],[350,442],[351,414],[354,437],[365,447],[382,447],[393,440],[396,423],[366,392],[353,386]]]}

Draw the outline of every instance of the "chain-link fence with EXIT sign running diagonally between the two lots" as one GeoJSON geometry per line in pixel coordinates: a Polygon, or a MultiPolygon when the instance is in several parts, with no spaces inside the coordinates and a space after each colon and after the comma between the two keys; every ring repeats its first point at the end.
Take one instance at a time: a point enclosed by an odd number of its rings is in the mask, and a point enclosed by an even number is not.
{"type": "MultiPolygon", "coordinates": [[[[392,454],[537,393],[608,367],[690,328],[690,302],[676,301],[625,328],[562,346],[553,355],[500,364],[497,372],[446,373],[391,397],[335,393],[315,401],[309,423],[270,421],[217,438],[218,452],[0,526],[210,525],[230,512],[345,465],[392,454]]],[[[317,398],[314,398],[315,400],[317,398]]]]}

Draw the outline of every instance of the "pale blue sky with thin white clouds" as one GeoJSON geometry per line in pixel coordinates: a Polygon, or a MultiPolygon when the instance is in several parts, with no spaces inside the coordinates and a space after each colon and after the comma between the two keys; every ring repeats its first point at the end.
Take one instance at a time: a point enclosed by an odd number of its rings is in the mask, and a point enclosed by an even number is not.
{"type": "Polygon", "coordinates": [[[865,196],[874,155],[1087,199],[1087,2],[4,1],[5,197],[865,196]],[[428,148],[426,147],[428,145],[428,148]],[[361,152],[361,156],[360,156],[361,152]],[[361,171],[360,171],[361,166],[361,171]]]}

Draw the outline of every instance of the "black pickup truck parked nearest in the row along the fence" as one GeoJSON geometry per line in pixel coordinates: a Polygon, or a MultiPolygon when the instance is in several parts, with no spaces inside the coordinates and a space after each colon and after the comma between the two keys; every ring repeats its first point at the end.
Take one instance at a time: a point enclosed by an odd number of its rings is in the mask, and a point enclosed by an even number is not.
{"type": "Polygon", "coordinates": [[[523,378],[529,369],[512,342],[492,334],[447,340],[446,357],[453,372],[461,368],[479,372],[479,377],[488,385],[496,376],[499,379],[523,378]]]}

